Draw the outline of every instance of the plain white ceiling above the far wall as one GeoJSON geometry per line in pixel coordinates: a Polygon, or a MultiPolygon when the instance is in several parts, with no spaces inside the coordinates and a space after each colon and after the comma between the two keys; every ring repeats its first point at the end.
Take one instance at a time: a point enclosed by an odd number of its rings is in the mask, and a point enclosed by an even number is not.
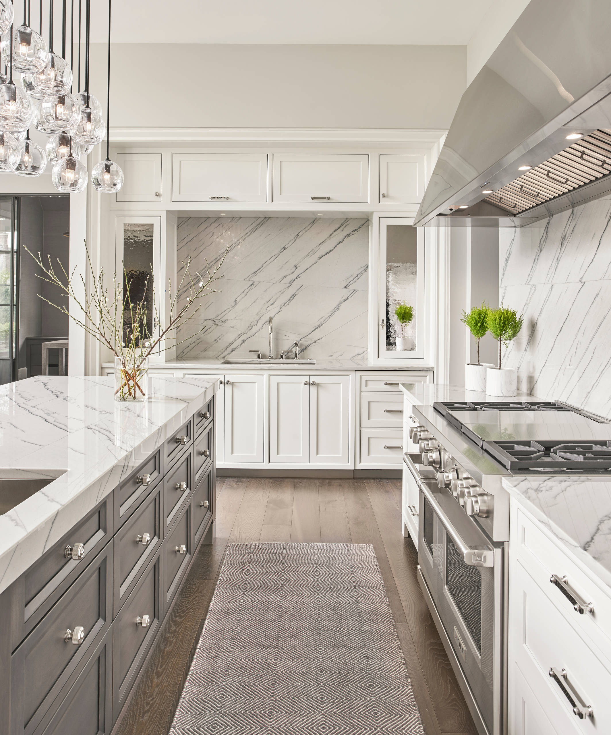
{"type": "MultiPolygon", "coordinates": [[[[121,0],[112,4],[112,42],[465,45],[503,1],[121,0]]],[[[107,7],[92,3],[93,43],[107,40],[107,7]]]]}

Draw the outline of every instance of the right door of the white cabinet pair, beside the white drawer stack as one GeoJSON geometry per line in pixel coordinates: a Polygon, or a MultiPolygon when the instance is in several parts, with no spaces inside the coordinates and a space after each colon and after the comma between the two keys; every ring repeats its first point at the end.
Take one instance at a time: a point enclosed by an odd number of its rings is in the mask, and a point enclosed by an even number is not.
{"type": "Polygon", "coordinates": [[[310,376],[310,462],[350,459],[350,378],[310,376]]]}

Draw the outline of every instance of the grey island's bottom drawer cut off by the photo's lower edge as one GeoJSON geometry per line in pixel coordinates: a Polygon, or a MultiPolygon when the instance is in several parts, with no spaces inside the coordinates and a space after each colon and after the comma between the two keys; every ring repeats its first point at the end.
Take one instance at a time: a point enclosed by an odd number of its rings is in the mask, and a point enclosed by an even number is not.
{"type": "Polygon", "coordinates": [[[112,631],[108,631],[59,709],[43,717],[36,735],[109,735],[112,728],[112,631]]]}

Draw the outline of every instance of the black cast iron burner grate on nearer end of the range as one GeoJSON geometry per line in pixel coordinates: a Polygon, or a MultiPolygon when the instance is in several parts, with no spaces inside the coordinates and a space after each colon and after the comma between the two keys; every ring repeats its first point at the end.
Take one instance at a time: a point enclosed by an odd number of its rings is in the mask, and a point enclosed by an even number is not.
{"type": "Polygon", "coordinates": [[[510,472],[516,470],[611,470],[611,442],[499,441],[483,448],[510,472]]]}

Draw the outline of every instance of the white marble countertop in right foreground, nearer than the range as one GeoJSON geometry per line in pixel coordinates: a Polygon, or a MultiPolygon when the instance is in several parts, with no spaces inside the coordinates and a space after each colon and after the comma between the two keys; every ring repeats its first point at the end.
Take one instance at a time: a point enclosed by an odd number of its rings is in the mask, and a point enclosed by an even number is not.
{"type": "Polygon", "coordinates": [[[581,564],[611,588],[610,477],[514,476],[504,477],[502,484],[581,564]]]}

